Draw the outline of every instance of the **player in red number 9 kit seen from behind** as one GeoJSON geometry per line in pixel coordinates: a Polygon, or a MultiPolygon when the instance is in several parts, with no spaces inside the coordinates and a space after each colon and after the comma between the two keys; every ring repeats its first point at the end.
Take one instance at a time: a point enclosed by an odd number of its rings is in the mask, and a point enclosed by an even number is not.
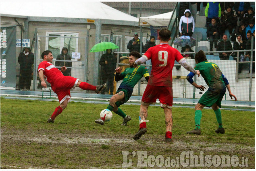
{"type": "Polygon", "coordinates": [[[164,109],[165,113],[165,141],[170,142],[172,140],[172,70],[175,60],[188,71],[200,76],[200,72],[194,70],[194,68],[187,64],[185,58],[183,58],[177,49],[168,45],[168,41],[171,39],[171,31],[168,29],[162,29],[159,32],[159,39],[159,45],[150,47],[141,58],[135,61],[135,64],[139,65],[151,59],[152,70],[148,80],[148,85],[142,96],[142,102],[139,111],[141,120],[139,121],[139,131],[133,137],[134,140],[138,140],[143,134],[147,132],[146,119],[148,117],[148,106],[150,104],[155,104],[156,99],[159,99],[161,107],[164,109]]]}

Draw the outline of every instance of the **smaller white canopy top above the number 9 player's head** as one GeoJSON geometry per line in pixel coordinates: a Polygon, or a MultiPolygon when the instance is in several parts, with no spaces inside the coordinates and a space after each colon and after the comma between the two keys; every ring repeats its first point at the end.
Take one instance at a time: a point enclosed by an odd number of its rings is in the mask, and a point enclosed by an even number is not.
{"type": "Polygon", "coordinates": [[[173,12],[164,14],[139,17],[139,25],[141,26],[168,26],[173,12]]]}

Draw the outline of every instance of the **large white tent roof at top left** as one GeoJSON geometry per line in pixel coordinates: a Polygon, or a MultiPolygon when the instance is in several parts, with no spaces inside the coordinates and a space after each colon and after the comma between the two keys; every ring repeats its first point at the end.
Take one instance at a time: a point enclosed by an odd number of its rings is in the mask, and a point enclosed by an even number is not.
{"type": "Polygon", "coordinates": [[[35,17],[61,17],[77,19],[107,19],[119,21],[138,22],[130,16],[107,6],[101,2],[72,1],[2,1],[0,13],[35,16],[35,17]]]}

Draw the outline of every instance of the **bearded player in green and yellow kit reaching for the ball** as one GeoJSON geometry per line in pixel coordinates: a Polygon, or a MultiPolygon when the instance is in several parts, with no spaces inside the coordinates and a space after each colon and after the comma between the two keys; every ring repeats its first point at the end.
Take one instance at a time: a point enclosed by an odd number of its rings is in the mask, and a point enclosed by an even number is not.
{"type": "MultiPolygon", "coordinates": [[[[119,81],[123,79],[123,82],[120,84],[119,88],[117,89],[117,92],[115,95],[113,95],[110,98],[109,105],[107,109],[110,111],[114,111],[114,113],[117,113],[121,117],[123,117],[123,124],[124,126],[127,125],[127,122],[131,120],[131,116],[126,115],[119,106],[127,102],[132,93],[133,93],[133,87],[139,82],[139,80],[144,76],[146,80],[148,81],[149,74],[148,70],[145,66],[138,66],[137,69],[134,68],[134,62],[138,58],[140,58],[140,54],[138,52],[131,52],[129,53],[129,68],[126,68],[124,72],[121,73],[122,68],[118,67],[116,69],[116,76],[114,78],[115,81],[119,81]],[[120,74],[121,73],[121,74],[120,74]]],[[[95,120],[97,124],[104,125],[104,121],[102,119],[95,120]]]]}

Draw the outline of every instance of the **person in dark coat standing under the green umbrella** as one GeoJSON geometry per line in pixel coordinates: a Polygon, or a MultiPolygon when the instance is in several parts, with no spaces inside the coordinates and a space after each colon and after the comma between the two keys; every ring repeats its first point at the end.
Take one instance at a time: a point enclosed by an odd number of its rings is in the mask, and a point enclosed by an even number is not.
{"type": "MultiPolygon", "coordinates": [[[[100,57],[99,64],[101,65],[100,80],[107,83],[106,92],[110,90],[110,95],[113,95],[114,91],[114,72],[117,66],[117,58],[112,55],[112,49],[106,49],[106,54],[100,57]]],[[[101,94],[105,94],[102,91],[101,94]]]]}

